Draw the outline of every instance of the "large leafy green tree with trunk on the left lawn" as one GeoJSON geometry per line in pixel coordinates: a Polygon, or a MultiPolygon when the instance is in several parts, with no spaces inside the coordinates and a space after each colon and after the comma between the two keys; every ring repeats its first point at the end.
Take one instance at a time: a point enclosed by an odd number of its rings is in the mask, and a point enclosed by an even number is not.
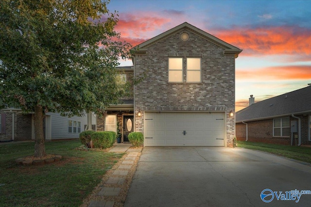
{"type": "Polygon", "coordinates": [[[108,2],[0,1],[0,109],[35,113],[35,157],[45,156],[46,112],[100,113],[126,91],[115,67],[129,45],[108,2]]]}

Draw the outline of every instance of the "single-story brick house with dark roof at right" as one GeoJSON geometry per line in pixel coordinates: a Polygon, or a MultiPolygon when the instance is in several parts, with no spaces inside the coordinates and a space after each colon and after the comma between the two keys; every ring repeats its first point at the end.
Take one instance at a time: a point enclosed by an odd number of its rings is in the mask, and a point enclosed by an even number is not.
{"type": "Polygon", "coordinates": [[[240,141],[286,145],[311,144],[311,87],[254,103],[236,112],[240,141]]]}

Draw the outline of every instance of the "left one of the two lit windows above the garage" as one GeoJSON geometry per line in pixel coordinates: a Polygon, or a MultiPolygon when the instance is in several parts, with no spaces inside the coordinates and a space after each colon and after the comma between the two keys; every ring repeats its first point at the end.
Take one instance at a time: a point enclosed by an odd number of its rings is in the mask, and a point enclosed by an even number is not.
{"type": "Polygon", "coordinates": [[[169,58],[169,82],[183,82],[182,58],[169,58]]]}

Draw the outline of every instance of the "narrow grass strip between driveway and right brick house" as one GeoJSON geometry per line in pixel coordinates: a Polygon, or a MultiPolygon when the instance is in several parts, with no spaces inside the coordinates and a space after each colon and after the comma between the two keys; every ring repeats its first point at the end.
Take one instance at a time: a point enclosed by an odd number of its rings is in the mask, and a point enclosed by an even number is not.
{"type": "Polygon", "coordinates": [[[286,158],[296,159],[296,160],[311,163],[311,148],[310,147],[301,147],[301,146],[298,147],[298,146],[268,144],[268,143],[254,143],[254,142],[245,142],[245,141],[238,141],[238,147],[259,150],[259,151],[283,156],[286,158]]]}

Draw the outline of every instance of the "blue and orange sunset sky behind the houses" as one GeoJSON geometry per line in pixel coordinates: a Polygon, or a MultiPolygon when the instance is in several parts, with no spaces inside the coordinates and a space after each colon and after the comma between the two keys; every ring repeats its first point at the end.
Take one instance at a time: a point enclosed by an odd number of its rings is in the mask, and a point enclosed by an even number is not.
{"type": "MultiPolygon", "coordinates": [[[[236,111],[311,83],[311,0],[111,0],[116,31],[136,46],[188,22],[243,49],[236,111]]],[[[121,65],[132,65],[131,61],[121,65]]]]}

